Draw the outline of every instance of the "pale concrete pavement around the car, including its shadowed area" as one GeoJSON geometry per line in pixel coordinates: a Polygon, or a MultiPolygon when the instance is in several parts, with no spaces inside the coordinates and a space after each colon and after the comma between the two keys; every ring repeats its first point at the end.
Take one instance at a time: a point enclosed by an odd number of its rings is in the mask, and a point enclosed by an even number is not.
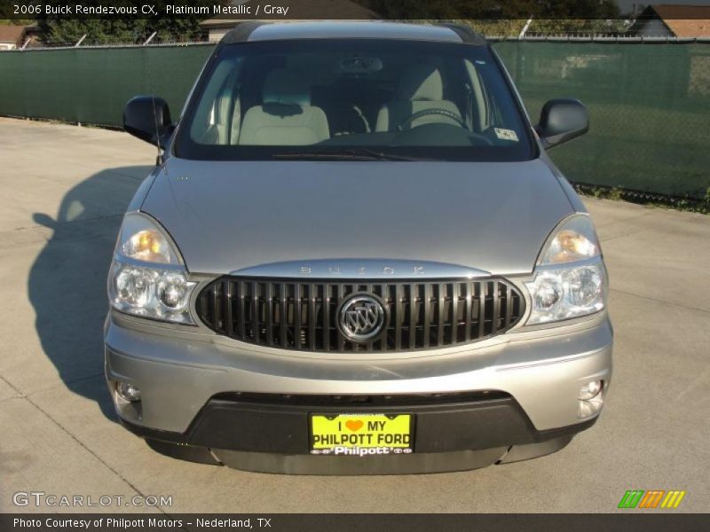
{"type": "Polygon", "coordinates": [[[37,511],[12,503],[33,490],[172,497],[133,512],[612,512],[627,489],[685,489],[677,511],[710,508],[710,216],[606,200],[586,203],[610,270],[615,375],[604,415],[566,449],[344,478],[150,450],[115,422],[101,325],[115,235],[154,157],[123,133],[0,118],[0,512],[37,511]]]}

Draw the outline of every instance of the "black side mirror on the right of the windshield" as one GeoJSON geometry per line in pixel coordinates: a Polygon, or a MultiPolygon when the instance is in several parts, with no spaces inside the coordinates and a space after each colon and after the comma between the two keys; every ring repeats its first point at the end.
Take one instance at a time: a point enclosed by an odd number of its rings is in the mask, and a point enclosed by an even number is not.
{"type": "Polygon", "coordinates": [[[561,145],[589,130],[587,107],[580,100],[558,98],[542,107],[540,123],[535,126],[545,148],[561,145]]]}

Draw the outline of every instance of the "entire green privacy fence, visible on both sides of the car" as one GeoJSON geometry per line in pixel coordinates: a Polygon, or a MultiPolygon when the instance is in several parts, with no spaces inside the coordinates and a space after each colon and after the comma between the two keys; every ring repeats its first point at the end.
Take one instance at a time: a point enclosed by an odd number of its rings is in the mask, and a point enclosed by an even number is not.
{"type": "MultiPolygon", "coordinates": [[[[551,152],[573,182],[702,199],[710,188],[710,43],[501,42],[533,121],[549,98],[589,109],[551,152]]],[[[212,46],[0,52],[0,114],[121,125],[136,94],[174,114],[212,46]]]]}

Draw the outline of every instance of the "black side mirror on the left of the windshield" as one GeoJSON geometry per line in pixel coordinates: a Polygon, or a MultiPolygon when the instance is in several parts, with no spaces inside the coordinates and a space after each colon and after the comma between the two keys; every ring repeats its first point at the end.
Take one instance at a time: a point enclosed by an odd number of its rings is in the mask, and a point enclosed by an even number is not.
{"type": "Polygon", "coordinates": [[[131,98],[123,110],[123,129],[133,137],[160,145],[164,150],[175,130],[170,121],[168,102],[157,96],[131,98]]]}

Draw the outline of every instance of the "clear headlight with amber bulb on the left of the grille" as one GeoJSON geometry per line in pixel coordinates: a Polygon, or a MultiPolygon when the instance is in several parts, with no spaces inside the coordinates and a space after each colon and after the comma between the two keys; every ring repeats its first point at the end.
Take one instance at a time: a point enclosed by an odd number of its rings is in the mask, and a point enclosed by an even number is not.
{"type": "Polygon", "coordinates": [[[139,213],[126,215],[108,278],[114,309],[192,324],[189,304],[195,285],[187,281],[176,247],[157,223],[139,213]]]}

